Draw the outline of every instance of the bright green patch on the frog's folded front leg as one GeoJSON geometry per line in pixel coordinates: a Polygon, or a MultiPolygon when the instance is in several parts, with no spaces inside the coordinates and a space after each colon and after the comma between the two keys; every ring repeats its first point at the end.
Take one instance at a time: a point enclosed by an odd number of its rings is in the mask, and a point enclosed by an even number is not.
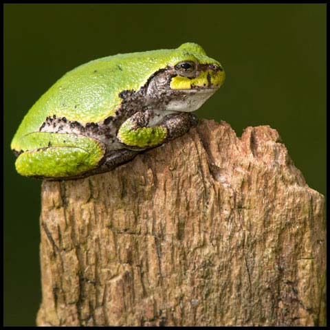
{"type": "Polygon", "coordinates": [[[129,118],[120,126],[117,136],[127,146],[148,148],[164,142],[167,136],[167,129],[164,126],[136,128],[134,120],[129,118]]]}

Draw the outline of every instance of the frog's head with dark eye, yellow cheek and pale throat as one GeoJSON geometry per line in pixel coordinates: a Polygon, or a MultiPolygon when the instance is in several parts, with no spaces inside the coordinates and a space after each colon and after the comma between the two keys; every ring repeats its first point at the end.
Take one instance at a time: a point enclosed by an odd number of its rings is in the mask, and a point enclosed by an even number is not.
{"type": "Polygon", "coordinates": [[[166,110],[195,111],[224,80],[225,72],[218,61],[196,43],[184,43],[173,50],[166,69],[153,77],[148,92],[160,92],[167,99],[166,110]]]}

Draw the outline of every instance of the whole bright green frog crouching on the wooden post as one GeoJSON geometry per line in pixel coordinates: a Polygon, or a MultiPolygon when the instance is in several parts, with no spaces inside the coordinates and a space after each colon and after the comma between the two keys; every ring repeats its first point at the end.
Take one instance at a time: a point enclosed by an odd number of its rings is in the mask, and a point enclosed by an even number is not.
{"type": "Polygon", "coordinates": [[[17,171],[74,179],[111,170],[195,126],[189,112],[224,79],[220,63],[195,43],[80,65],[25,115],[11,144],[17,171]]]}

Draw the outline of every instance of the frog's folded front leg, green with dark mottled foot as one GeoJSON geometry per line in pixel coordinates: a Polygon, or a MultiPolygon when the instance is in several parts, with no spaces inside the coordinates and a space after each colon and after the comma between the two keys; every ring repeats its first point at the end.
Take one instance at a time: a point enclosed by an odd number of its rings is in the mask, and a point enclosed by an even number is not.
{"type": "Polygon", "coordinates": [[[152,111],[132,115],[120,126],[117,134],[120,142],[126,148],[143,150],[184,135],[197,124],[197,116],[192,113],[170,113],[159,123],[148,126],[152,118],[152,111]]]}

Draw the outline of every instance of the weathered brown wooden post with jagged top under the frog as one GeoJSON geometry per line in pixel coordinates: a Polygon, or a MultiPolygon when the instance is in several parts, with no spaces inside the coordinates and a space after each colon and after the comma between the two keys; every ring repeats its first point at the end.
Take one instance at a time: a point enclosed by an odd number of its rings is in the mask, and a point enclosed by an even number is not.
{"type": "Polygon", "coordinates": [[[203,120],[109,173],[44,181],[40,221],[39,326],[325,325],[325,198],[270,126],[203,120]]]}

